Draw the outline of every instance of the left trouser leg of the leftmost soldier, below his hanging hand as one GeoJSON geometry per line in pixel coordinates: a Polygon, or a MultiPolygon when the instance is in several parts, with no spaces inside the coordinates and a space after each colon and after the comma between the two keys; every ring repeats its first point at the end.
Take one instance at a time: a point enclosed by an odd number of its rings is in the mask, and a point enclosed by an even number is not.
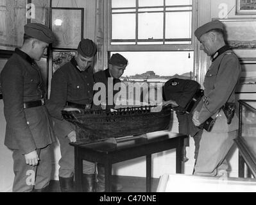
{"type": "Polygon", "coordinates": [[[21,151],[13,151],[13,171],[15,174],[13,181],[13,192],[31,192],[35,185],[35,174],[37,166],[32,167],[26,164],[21,151]]]}

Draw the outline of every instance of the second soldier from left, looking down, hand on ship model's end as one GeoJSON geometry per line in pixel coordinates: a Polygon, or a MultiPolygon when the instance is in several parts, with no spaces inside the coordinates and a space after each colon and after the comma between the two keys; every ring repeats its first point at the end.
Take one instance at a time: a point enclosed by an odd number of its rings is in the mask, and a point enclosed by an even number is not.
{"type": "MultiPolygon", "coordinates": [[[[51,80],[51,97],[47,108],[54,117],[55,133],[60,142],[62,158],[59,161],[59,179],[62,192],[73,192],[74,147],[69,145],[69,142],[76,142],[76,131],[73,124],[63,119],[61,111],[66,106],[91,108],[94,94],[93,63],[96,52],[97,47],[92,40],[81,40],[76,56],[56,70],[51,80]]],[[[94,172],[95,164],[84,160],[84,192],[94,191],[94,172]]]]}

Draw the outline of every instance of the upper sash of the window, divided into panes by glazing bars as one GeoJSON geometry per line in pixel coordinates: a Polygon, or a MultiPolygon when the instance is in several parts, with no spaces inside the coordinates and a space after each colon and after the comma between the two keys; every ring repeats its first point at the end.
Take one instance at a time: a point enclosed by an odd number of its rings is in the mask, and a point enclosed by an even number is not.
{"type": "Polygon", "coordinates": [[[191,44],[192,0],[110,2],[110,45],[191,44]]]}

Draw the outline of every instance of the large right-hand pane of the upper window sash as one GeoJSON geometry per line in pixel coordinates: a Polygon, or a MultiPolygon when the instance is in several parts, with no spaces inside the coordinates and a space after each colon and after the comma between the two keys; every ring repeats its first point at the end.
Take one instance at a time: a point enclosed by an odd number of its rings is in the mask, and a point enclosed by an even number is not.
{"type": "Polygon", "coordinates": [[[166,38],[191,38],[191,12],[166,13],[166,38]]]}

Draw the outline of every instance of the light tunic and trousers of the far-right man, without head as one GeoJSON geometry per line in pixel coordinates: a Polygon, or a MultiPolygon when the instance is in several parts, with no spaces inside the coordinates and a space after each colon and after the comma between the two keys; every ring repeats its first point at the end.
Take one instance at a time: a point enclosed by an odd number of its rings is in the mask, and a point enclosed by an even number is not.
{"type": "Polygon", "coordinates": [[[194,168],[196,175],[216,176],[219,170],[227,169],[223,161],[234,143],[239,121],[235,114],[228,125],[220,108],[226,102],[235,102],[235,86],[240,74],[237,56],[227,46],[219,49],[205,75],[205,96],[196,108],[201,123],[218,115],[212,131],[204,130],[201,136],[198,161],[194,168]]]}

